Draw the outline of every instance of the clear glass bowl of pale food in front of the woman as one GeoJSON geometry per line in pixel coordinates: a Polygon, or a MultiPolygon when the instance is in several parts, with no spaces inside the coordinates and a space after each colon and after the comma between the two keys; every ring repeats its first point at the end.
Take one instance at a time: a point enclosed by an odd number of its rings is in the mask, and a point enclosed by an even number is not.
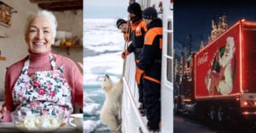
{"type": "Polygon", "coordinates": [[[19,116],[11,113],[15,127],[24,132],[52,132],[58,130],[63,122],[63,114],[42,116],[19,116]]]}

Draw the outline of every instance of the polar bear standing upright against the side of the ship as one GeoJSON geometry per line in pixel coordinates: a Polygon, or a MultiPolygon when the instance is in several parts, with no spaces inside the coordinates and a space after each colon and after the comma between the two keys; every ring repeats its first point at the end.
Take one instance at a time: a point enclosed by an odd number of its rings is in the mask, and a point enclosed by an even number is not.
{"type": "Polygon", "coordinates": [[[100,115],[102,123],[108,125],[108,128],[113,132],[120,131],[123,80],[121,78],[116,85],[113,85],[113,81],[110,77],[105,75],[102,81],[102,89],[106,94],[100,115]]]}

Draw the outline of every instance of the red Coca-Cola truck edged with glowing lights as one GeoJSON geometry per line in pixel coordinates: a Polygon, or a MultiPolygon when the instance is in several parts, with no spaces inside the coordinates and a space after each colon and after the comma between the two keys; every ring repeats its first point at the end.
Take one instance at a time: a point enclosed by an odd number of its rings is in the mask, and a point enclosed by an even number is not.
{"type": "MultiPolygon", "coordinates": [[[[208,119],[256,121],[256,22],[241,19],[195,53],[189,112],[208,119]]],[[[189,100],[188,100],[189,99],[189,100]]]]}

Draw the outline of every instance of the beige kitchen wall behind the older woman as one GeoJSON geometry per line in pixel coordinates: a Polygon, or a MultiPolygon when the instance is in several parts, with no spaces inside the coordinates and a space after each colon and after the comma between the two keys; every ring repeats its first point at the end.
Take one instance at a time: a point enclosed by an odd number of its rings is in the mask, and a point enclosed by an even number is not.
{"type": "MultiPolygon", "coordinates": [[[[26,13],[37,11],[37,3],[30,3],[28,0],[0,0],[14,8],[16,13],[12,14],[11,26],[0,25],[0,101],[3,100],[4,76],[6,68],[14,64],[21,58],[26,57],[27,45],[25,42],[24,28],[26,23],[26,13]]],[[[58,20],[57,30],[68,30],[74,36],[83,37],[83,11],[62,11],[53,12],[58,20]]],[[[83,47],[53,47],[53,52],[72,58],[75,62],[83,63],[83,47]]]]}

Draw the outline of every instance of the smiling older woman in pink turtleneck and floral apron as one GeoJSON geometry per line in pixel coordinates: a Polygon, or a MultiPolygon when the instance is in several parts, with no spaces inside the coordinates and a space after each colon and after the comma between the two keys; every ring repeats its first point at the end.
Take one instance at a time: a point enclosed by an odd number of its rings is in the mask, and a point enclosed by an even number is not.
{"type": "Polygon", "coordinates": [[[83,77],[69,58],[51,53],[55,42],[56,19],[49,11],[29,14],[25,40],[29,55],[9,66],[5,76],[5,100],[1,121],[20,115],[73,113],[77,103],[83,108],[83,77]]]}

